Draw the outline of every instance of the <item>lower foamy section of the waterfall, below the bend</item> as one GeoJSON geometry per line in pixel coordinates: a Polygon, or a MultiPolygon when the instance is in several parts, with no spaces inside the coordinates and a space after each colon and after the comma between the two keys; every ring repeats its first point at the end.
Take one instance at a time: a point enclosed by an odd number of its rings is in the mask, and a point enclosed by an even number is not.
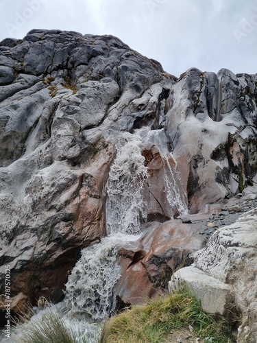
{"type": "Polygon", "coordinates": [[[119,241],[113,237],[101,239],[82,250],[82,257],[73,268],[66,283],[66,309],[68,315],[83,316],[99,322],[115,309],[113,287],[120,276],[116,263],[119,241]]]}

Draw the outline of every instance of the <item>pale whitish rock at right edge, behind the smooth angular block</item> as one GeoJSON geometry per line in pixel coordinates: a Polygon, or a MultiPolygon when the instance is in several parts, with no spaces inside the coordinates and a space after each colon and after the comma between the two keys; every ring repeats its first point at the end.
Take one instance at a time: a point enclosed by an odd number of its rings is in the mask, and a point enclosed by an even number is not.
{"type": "Polygon", "coordinates": [[[238,342],[245,340],[244,327],[249,327],[249,342],[256,337],[252,320],[256,316],[256,218],[254,209],[241,215],[234,224],[219,228],[206,248],[197,252],[195,260],[196,268],[234,289],[235,303],[244,318],[238,342]]]}

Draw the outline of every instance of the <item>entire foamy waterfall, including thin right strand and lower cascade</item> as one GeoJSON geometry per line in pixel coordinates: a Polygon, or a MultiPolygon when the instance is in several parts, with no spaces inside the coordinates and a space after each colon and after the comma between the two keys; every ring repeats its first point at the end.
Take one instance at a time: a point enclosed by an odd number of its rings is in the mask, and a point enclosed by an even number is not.
{"type": "Polygon", "coordinates": [[[93,323],[103,322],[115,311],[113,292],[121,273],[117,265],[117,252],[121,246],[139,239],[140,223],[147,219],[143,190],[149,187],[148,173],[141,150],[153,145],[162,157],[164,192],[169,206],[175,206],[181,214],[187,212],[186,196],[180,191],[176,167],[171,166],[173,158],[164,130],[143,128],[134,134],[120,134],[117,156],[110,167],[106,184],[108,237],[82,250],[82,256],[66,283],[65,298],[56,305],[67,324],[83,327],[89,342],[95,340],[93,323]]]}

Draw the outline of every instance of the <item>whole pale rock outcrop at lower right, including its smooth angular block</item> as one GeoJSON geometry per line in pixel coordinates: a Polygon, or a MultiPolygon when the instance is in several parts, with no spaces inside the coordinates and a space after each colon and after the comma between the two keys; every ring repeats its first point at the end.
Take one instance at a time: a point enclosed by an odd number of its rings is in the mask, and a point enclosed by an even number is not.
{"type": "Polygon", "coordinates": [[[230,226],[219,228],[195,263],[175,272],[169,289],[190,287],[210,313],[227,314],[241,322],[237,342],[257,338],[257,210],[241,215],[230,226]],[[238,316],[238,310],[241,314],[238,316]]]}

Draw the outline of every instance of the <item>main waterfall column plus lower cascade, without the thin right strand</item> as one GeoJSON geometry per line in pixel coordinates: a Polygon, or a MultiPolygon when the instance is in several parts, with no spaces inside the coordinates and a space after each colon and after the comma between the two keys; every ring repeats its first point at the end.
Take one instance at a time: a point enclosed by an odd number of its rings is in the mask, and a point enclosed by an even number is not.
{"type": "Polygon", "coordinates": [[[113,288],[120,276],[117,251],[138,239],[140,220],[146,217],[141,190],[147,186],[147,167],[140,153],[140,140],[127,132],[117,144],[117,157],[106,185],[106,226],[108,237],[82,250],[82,257],[66,283],[66,310],[69,316],[83,315],[101,321],[115,309],[113,288]],[[133,236],[132,236],[133,235],[133,236]]]}

